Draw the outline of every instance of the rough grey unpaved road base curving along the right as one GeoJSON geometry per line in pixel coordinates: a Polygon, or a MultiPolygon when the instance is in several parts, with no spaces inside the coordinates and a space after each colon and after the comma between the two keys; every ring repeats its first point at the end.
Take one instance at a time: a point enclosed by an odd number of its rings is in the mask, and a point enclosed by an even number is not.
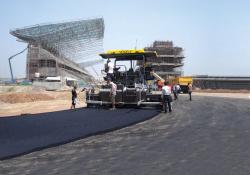
{"type": "Polygon", "coordinates": [[[182,95],[172,113],[1,161],[0,174],[249,175],[250,100],[182,95]]]}

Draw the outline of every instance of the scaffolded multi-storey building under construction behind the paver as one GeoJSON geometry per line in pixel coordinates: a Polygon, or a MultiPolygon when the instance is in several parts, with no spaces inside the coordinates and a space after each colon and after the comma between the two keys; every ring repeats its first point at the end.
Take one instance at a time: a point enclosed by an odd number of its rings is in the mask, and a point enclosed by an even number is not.
{"type": "Polygon", "coordinates": [[[154,41],[151,47],[144,50],[156,51],[157,58],[150,58],[147,63],[164,79],[183,75],[183,49],[174,46],[172,41],[154,41]]]}

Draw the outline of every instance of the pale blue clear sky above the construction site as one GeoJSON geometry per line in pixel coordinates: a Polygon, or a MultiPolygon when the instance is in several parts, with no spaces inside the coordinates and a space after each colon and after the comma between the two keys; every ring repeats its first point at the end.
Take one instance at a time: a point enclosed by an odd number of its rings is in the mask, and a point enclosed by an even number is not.
{"type": "MultiPolygon", "coordinates": [[[[104,50],[143,48],[172,40],[185,52],[185,75],[250,76],[250,1],[247,0],[5,0],[0,2],[0,77],[8,57],[26,44],[9,30],[40,23],[103,17],[104,50]]],[[[13,60],[25,76],[26,53],[13,60]]]]}

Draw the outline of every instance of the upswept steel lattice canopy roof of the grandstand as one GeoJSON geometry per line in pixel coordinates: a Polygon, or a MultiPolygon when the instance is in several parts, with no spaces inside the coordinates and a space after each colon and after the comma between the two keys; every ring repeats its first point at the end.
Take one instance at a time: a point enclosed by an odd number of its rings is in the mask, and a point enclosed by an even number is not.
{"type": "Polygon", "coordinates": [[[11,30],[24,42],[41,45],[52,54],[81,63],[103,51],[103,18],[39,24],[11,30]]]}

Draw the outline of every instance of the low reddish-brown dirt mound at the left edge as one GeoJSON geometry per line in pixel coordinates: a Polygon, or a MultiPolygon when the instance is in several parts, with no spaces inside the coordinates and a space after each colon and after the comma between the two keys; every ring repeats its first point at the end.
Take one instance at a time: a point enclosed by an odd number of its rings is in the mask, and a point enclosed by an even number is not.
{"type": "Polygon", "coordinates": [[[46,101],[46,100],[54,100],[54,98],[47,94],[35,94],[35,93],[0,94],[0,101],[5,103],[25,103],[25,102],[46,101]]]}

